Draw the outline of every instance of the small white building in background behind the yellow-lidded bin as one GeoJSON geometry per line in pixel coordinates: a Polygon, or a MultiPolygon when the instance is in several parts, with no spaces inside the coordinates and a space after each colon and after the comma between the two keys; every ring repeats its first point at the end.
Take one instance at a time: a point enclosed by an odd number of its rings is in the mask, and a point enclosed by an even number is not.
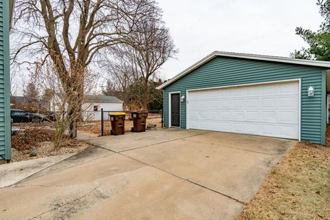
{"type": "MultiPolygon", "coordinates": [[[[122,111],[124,102],[115,96],[85,95],[83,104],[83,120],[101,120],[101,109],[103,111],[122,111]]],[[[107,115],[103,115],[107,117],[107,115]]]]}

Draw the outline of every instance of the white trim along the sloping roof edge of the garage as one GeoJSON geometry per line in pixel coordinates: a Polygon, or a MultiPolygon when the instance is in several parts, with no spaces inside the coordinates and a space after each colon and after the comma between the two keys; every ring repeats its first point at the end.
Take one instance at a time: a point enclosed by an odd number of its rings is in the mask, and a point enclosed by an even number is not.
{"type": "Polygon", "coordinates": [[[252,59],[252,60],[272,61],[272,62],[278,62],[278,63],[291,63],[291,64],[308,65],[308,66],[315,66],[315,67],[327,67],[330,69],[330,62],[327,62],[327,61],[311,61],[311,60],[303,60],[303,59],[281,57],[281,56],[265,56],[265,55],[256,55],[256,54],[241,54],[241,53],[214,51],[214,52],[212,52],[212,54],[209,54],[208,56],[202,58],[200,61],[198,61],[194,65],[191,65],[190,67],[185,69],[183,72],[177,74],[176,76],[174,76],[173,78],[168,80],[166,83],[159,85],[159,87],[157,87],[157,89],[164,89],[171,83],[174,83],[179,78],[185,76],[186,74],[189,74],[190,72],[192,72],[192,70],[196,69],[197,67],[200,67],[204,63],[210,61],[212,58],[217,57],[217,56],[246,58],[246,59],[252,59]]]}

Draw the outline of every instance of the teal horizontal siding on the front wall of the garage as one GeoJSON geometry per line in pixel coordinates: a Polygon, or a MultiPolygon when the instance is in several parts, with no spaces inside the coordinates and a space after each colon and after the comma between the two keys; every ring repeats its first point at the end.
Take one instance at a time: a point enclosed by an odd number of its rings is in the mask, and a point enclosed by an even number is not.
{"type": "MultiPolygon", "coordinates": [[[[297,78],[301,79],[301,139],[325,144],[325,69],[305,65],[217,56],[164,88],[164,126],[168,127],[168,92],[170,91],[181,91],[181,96],[186,96],[187,89],[297,78]],[[315,88],[313,97],[307,96],[309,85],[315,88]]],[[[186,129],[186,102],[181,102],[181,129],[186,129]]]]}

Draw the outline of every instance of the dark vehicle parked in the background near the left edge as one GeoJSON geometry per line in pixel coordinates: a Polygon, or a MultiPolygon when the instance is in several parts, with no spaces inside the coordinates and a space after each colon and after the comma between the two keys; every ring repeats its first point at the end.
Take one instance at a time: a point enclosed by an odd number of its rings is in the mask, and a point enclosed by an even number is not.
{"type": "Polygon", "coordinates": [[[45,115],[39,113],[31,113],[28,111],[23,111],[21,109],[11,109],[10,116],[13,123],[20,122],[42,122],[46,120],[45,115]]]}

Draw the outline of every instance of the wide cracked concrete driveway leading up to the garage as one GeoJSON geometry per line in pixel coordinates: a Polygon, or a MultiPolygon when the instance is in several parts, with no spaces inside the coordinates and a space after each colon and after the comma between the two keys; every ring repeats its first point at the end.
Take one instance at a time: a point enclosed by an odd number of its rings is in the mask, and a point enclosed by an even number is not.
{"type": "Polygon", "coordinates": [[[85,141],[99,157],[0,188],[3,219],[233,219],[296,144],[174,129],[85,141]]]}

